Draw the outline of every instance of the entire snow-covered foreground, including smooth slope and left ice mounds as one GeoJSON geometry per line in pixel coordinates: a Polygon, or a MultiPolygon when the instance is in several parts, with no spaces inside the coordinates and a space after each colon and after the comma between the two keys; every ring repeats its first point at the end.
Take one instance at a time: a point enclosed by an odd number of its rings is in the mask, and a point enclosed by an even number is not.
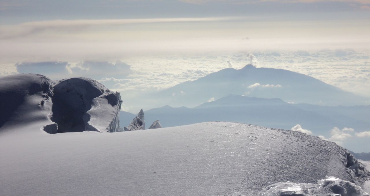
{"type": "Polygon", "coordinates": [[[335,143],[233,122],[115,132],[121,102],[88,78],[0,78],[0,195],[367,195],[335,143]]]}

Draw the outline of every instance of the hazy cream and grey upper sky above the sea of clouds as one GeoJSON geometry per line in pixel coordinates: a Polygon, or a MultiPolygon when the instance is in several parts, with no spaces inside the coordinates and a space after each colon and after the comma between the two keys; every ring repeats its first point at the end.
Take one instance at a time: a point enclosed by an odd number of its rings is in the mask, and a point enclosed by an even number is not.
{"type": "Polygon", "coordinates": [[[370,44],[370,0],[0,2],[3,63],[370,44]]]}

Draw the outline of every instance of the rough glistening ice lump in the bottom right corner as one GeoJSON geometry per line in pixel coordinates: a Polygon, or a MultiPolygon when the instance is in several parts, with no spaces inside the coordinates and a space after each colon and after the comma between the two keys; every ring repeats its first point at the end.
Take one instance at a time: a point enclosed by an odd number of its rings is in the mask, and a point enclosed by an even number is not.
{"type": "Polygon", "coordinates": [[[328,177],[313,183],[279,182],[266,187],[258,196],[369,196],[360,186],[328,177]]]}

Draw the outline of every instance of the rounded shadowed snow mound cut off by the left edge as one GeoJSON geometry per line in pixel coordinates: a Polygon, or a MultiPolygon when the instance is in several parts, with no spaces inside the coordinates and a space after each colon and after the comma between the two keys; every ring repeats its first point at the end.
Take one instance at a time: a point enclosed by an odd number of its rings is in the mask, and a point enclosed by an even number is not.
{"type": "Polygon", "coordinates": [[[55,131],[50,121],[52,96],[53,82],[44,75],[15,74],[0,78],[0,132],[31,124],[37,124],[37,131],[40,127],[55,131]]]}

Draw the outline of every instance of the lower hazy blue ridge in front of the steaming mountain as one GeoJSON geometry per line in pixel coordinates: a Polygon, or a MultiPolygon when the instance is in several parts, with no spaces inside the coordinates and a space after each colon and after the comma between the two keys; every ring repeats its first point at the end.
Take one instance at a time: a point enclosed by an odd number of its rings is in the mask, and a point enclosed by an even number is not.
{"type": "MultiPolygon", "coordinates": [[[[369,122],[355,119],[356,116],[346,116],[334,111],[330,115],[321,114],[323,112],[315,110],[316,106],[310,110],[297,106],[299,104],[288,104],[277,98],[228,95],[194,108],[173,108],[168,105],[153,108],[145,111],[145,115],[149,122],[153,121],[154,118],[159,119],[164,127],[207,121],[241,122],[282,129],[290,129],[294,125],[300,124],[317,134],[324,134],[324,131],[329,131],[334,126],[349,126],[357,131],[366,131],[370,126],[369,122]]],[[[317,108],[321,107],[317,106],[317,108]]],[[[351,108],[349,107],[347,110],[351,110],[351,108]]],[[[132,116],[134,114],[122,112],[122,117],[120,117],[122,126],[127,124],[132,116]]]]}

